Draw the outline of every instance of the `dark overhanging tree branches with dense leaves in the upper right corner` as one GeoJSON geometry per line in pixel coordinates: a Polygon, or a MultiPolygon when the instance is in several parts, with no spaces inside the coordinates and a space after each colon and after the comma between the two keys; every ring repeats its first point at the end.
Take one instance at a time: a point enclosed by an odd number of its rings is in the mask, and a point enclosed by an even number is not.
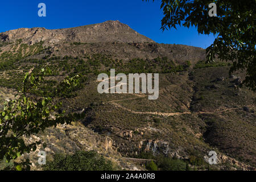
{"type": "Polygon", "coordinates": [[[160,8],[164,14],[163,31],[182,25],[195,26],[199,34],[216,35],[207,48],[207,61],[216,57],[232,61],[230,73],[245,69],[242,85],[256,91],[255,0],[162,0],[160,8]],[[216,4],[217,16],[209,16],[210,3],[216,4]]]}

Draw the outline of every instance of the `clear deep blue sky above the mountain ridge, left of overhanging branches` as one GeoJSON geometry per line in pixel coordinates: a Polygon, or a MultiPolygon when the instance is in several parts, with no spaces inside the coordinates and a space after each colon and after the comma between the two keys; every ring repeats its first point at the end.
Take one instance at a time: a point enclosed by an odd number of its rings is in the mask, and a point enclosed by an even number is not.
{"type": "Polygon", "coordinates": [[[0,32],[24,27],[68,28],[119,20],[158,43],[206,48],[214,40],[213,35],[199,35],[196,28],[177,27],[177,30],[162,32],[160,27],[163,13],[160,10],[160,0],[2,1],[0,17],[0,32]],[[38,16],[38,4],[41,2],[46,4],[46,17],[38,16]]]}

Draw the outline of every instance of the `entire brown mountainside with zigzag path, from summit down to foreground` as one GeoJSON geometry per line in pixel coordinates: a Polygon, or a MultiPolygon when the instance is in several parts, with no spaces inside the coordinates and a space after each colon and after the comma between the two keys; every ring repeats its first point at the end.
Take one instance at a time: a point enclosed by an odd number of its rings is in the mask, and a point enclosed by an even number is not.
{"type": "MultiPolygon", "coordinates": [[[[14,30],[0,38],[1,106],[14,98],[26,72],[49,67],[53,73],[40,86],[43,92],[33,94],[62,101],[70,113],[86,114],[72,125],[26,138],[47,143],[47,160],[57,153],[96,150],[115,169],[145,169],[144,160],[134,158],[154,159],[159,169],[174,169],[164,160],[179,161],[180,169],[186,163],[192,169],[255,169],[256,95],[238,87],[245,75],[230,76],[230,63],[205,64],[204,49],[158,44],[116,21],[14,30]],[[98,74],[111,68],[116,74],[159,73],[159,98],[98,93],[98,74]],[[81,76],[79,87],[54,94],[58,82],[74,75],[81,76]],[[218,154],[216,166],[207,163],[211,150],[218,154]]],[[[33,169],[41,169],[36,152],[21,158],[26,157],[33,169]]]]}

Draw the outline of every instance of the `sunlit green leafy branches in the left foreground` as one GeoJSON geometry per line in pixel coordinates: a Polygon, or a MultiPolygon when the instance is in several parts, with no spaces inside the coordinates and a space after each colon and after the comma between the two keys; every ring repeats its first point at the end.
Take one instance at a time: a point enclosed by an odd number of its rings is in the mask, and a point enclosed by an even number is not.
{"type": "MultiPolygon", "coordinates": [[[[35,97],[31,94],[44,82],[44,75],[51,73],[50,69],[42,69],[38,76],[27,73],[23,80],[23,89],[14,100],[5,103],[0,112],[0,159],[7,162],[16,159],[25,152],[36,150],[40,141],[26,144],[23,136],[37,134],[47,127],[58,123],[71,123],[81,118],[81,114],[66,114],[61,111],[61,102],[54,101],[51,97],[35,97]]],[[[63,89],[71,89],[77,84],[77,77],[65,78],[63,89]]],[[[43,144],[46,147],[46,144],[43,144]]],[[[30,162],[27,159],[22,164],[16,164],[16,169],[29,169],[30,162]]]]}

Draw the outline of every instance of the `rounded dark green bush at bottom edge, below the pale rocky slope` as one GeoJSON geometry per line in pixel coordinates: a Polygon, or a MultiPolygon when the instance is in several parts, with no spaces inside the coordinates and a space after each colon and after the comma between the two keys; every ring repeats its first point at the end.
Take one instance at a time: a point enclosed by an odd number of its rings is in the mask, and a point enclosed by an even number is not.
{"type": "Polygon", "coordinates": [[[77,151],[74,155],[56,154],[44,171],[111,171],[112,163],[96,151],[77,151]]]}

